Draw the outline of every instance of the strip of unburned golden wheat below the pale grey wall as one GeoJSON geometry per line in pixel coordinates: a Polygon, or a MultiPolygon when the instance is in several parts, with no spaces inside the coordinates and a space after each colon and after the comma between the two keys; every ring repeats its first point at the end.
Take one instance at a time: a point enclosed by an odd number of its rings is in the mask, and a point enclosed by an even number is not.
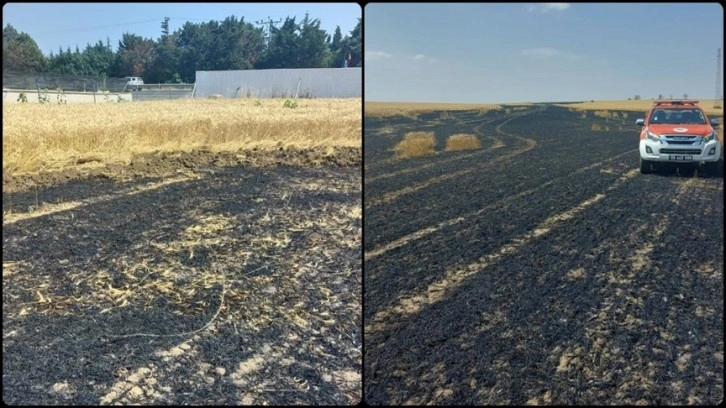
{"type": "Polygon", "coordinates": [[[3,105],[3,173],[125,163],[151,151],[360,147],[354,99],[3,105]]]}

